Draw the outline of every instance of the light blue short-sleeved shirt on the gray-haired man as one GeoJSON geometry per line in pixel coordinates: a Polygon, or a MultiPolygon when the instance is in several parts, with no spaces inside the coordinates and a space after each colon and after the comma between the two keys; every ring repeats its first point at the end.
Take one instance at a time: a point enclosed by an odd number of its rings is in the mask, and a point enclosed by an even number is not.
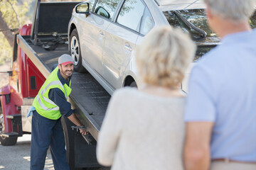
{"type": "Polygon", "coordinates": [[[212,159],[256,162],[256,30],[221,43],[192,69],[185,121],[215,123],[212,159]]]}

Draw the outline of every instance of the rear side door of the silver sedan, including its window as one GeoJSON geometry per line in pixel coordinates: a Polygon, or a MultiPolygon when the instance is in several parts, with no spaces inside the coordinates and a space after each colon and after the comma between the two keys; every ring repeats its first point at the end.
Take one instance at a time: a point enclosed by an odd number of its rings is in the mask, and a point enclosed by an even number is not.
{"type": "Polygon", "coordinates": [[[142,1],[125,0],[116,21],[105,32],[103,71],[113,90],[122,87],[122,76],[135,52],[144,11],[142,1]]]}

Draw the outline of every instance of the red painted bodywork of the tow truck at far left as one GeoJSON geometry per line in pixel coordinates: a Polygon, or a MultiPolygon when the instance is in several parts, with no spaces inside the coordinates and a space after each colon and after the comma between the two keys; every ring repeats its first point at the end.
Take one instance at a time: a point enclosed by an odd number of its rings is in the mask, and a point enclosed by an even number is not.
{"type": "MultiPolygon", "coordinates": [[[[30,34],[31,24],[26,24],[19,30],[19,35],[30,34]]],[[[12,125],[8,115],[20,115],[23,98],[34,98],[45,80],[46,78],[43,77],[35,64],[21,50],[21,47],[18,47],[15,38],[9,84],[0,89],[3,122],[1,131],[3,133],[18,132],[18,127],[12,125]]]]}

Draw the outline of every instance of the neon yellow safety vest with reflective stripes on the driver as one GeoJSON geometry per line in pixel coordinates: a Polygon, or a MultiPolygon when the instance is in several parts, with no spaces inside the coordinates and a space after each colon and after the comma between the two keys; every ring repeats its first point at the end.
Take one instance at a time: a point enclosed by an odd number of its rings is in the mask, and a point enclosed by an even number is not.
{"type": "MultiPolygon", "coordinates": [[[[71,84],[71,81],[70,81],[71,84]]],[[[58,79],[58,67],[56,67],[53,72],[50,73],[49,77],[44,82],[43,86],[38,92],[38,95],[33,101],[33,106],[36,108],[36,111],[45,118],[52,120],[57,120],[60,118],[60,108],[49,99],[49,91],[53,88],[58,88],[63,91],[65,98],[68,99],[72,89],[67,84],[61,84],[60,79],[58,79]]]]}

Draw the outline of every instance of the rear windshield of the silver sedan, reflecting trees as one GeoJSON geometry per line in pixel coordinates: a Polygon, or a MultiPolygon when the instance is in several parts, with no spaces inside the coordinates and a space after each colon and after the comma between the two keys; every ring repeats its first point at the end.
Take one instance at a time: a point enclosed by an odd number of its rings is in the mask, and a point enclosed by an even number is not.
{"type": "MultiPolygon", "coordinates": [[[[191,38],[198,45],[195,60],[198,60],[199,57],[206,54],[220,42],[218,35],[208,27],[204,9],[164,11],[163,13],[171,26],[190,33],[191,38]]],[[[256,14],[250,18],[250,26],[256,28],[256,14]]]]}

